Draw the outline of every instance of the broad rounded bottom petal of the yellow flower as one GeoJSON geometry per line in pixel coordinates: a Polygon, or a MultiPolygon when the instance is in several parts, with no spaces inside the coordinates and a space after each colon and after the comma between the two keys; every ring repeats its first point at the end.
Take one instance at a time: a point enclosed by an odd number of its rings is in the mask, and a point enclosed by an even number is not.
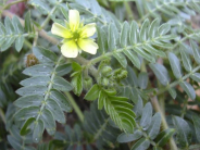
{"type": "Polygon", "coordinates": [[[61,52],[66,58],[76,58],[78,55],[78,46],[74,40],[65,41],[61,47],[61,52]]]}

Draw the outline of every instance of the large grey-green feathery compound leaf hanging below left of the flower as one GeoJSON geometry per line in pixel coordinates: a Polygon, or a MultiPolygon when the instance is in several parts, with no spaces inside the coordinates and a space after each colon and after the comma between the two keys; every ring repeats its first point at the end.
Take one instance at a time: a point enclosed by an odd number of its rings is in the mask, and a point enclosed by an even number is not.
{"type": "Polygon", "coordinates": [[[23,71],[25,75],[32,77],[21,82],[25,87],[16,90],[16,93],[22,97],[14,102],[21,108],[14,117],[17,121],[26,121],[21,134],[33,130],[33,139],[38,142],[43,129],[47,129],[50,135],[54,134],[55,121],[65,123],[63,111],[70,112],[71,105],[61,91],[70,91],[72,86],[57,73],[59,71],[64,75],[71,71],[66,68],[70,66],[62,61],[63,57],[57,57],[41,47],[35,47],[34,54],[41,63],[23,71]]]}

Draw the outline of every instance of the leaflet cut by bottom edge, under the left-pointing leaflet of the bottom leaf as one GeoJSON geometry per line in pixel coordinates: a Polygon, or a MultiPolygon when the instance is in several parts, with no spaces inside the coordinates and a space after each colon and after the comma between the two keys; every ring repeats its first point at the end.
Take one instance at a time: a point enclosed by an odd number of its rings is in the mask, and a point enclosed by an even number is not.
{"type": "Polygon", "coordinates": [[[138,140],[130,150],[147,150],[150,146],[150,141],[146,138],[138,140]]]}

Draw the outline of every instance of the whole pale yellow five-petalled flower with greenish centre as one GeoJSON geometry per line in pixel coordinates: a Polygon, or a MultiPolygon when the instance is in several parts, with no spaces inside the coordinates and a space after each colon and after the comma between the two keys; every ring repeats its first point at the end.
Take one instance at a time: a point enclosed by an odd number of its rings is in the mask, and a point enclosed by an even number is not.
{"type": "Polygon", "coordinates": [[[96,54],[98,45],[89,38],[96,33],[96,23],[83,25],[79,22],[79,12],[76,10],[68,11],[68,23],[65,26],[53,23],[51,33],[63,39],[61,52],[66,58],[76,58],[82,50],[96,54]]]}

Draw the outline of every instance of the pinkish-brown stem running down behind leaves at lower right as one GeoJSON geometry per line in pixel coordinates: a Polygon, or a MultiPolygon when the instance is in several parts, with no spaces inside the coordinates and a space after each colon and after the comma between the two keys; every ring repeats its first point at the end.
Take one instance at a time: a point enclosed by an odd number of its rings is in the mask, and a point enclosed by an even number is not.
{"type": "MultiPolygon", "coordinates": [[[[161,110],[161,107],[159,104],[159,101],[158,101],[157,97],[151,98],[151,103],[152,103],[154,110],[157,112],[161,113],[161,123],[162,123],[163,129],[167,129],[168,125],[166,123],[165,116],[164,116],[164,114],[161,110]]],[[[171,137],[171,139],[170,139],[170,147],[171,147],[171,150],[178,150],[173,137],[171,137]]]]}

